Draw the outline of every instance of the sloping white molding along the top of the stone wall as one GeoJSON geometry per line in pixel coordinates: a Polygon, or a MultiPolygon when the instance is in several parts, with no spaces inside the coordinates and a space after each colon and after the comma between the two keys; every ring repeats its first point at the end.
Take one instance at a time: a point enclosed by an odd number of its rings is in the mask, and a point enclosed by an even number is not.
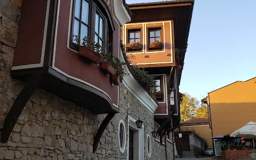
{"type": "MultiPolygon", "coordinates": [[[[120,50],[120,60],[122,62],[125,62],[123,53],[120,50]]],[[[158,107],[157,103],[154,101],[153,98],[150,97],[150,95],[141,87],[141,85],[135,80],[135,78],[132,76],[130,70],[125,65],[124,72],[126,75],[123,79],[123,84],[125,87],[144,105],[146,106],[151,113],[154,113],[156,108],[158,107]]]]}

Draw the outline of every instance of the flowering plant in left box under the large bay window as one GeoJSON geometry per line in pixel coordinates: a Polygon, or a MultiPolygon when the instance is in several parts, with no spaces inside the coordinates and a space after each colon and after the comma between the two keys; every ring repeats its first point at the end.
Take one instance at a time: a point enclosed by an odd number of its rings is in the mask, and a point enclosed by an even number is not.
{"type": "Polygon", "coordinates": [[[99,43],[91,42],[91,36],[84,37],[83,41],[81,41],[77,35],[74,35],[74,37],[74,40],[76,41],[76,44],[78,46],[88,47],[89,49],[95,51],[98,54],[101,54],[103,52],[102,46],[99,43]]]}

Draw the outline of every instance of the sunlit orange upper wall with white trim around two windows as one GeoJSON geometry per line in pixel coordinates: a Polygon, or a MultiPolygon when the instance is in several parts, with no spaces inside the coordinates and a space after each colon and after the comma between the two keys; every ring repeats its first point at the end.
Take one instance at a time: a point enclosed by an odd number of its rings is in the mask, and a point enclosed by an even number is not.
{"type": "MultiPolygon", "coordinates": [[[[140,39],[143,44],[141,51],[126,52],[127,56],[130,58],[132,63],[136,63],[138,67],[143,67],[143,65],[154,65],[163,64],[163,66],[169,65],[173,66],[173,52],[175,52],[174,42],[173,42],[173,21],[161,21],[161,22],[145,22],[145,23],[128,23],[122,28],[121,38],[124,44],[127,44],[127,30],[140,28],[142,39],[140,39]],[[162,51],[147,51],[148,37],[147,28],[162,27],[163,29],[163,39],[165,49],[162,51]],[[146,64],[145,64],[146,63],[146,64]]],[[[163,42],[162,42],[163,43],[163,42]]],[[[159,65],[158,65],[159,66],[159,65]]]]}

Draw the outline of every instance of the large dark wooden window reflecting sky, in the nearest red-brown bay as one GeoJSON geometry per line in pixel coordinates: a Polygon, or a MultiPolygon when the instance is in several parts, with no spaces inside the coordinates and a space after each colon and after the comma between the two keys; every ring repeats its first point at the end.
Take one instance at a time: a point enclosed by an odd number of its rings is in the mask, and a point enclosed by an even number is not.
{"type": "MultiPolygon", "coordinates": [[[[82,43],[84,37],[90,36],[91,42],[99,43],[103,49],[107,41],[113,42],[113,29],[108,28],[108,20],[105,17],[104,7],[98,6],[95,0],[73,0],[73,25],[70,36],[70,46],[78,50],[73,36],[78,36],[82,43]],[[102,10],[104,12],[102,12],[102,10]]],[[[110,47],[108,47],[110,49],[110,47]]],[[[110,49],[112,51],[112,49],[110,49]]]]}

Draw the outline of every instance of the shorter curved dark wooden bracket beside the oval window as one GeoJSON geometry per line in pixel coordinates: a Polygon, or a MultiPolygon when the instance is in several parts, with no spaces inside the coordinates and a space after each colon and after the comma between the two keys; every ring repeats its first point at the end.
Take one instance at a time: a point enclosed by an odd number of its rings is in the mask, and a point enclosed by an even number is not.
{"type": "Polygon", "coordinates": [[[109,113],[107,115],[107,117],[103,120],[103,122],[101,123],[99,130],[97,131],[95,137],[94,137],[94,142],[93,142],[93,151],[92,153],[95,153],[95,151],[97,150],[97,147],[99,145],[100,142],[100,138],[103,134],[103,132],[105,131],[106,127],[108,126],[109,122],[111,121],[111,119],[115,116],[115,113],[109,113]]]}

